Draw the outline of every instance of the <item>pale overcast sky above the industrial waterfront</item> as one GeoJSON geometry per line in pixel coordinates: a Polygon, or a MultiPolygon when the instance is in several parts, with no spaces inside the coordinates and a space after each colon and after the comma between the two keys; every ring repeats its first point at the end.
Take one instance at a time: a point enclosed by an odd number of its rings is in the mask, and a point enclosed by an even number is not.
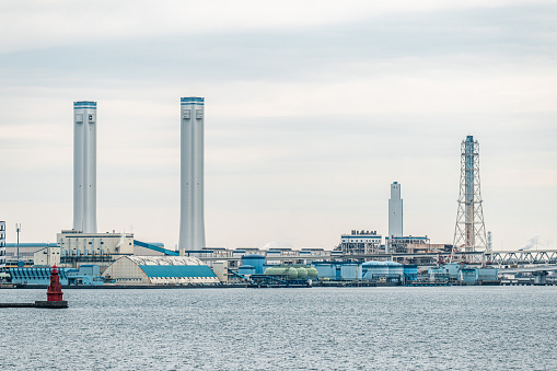
{"type": "Polygon", "coordinates": [[[0,3],[7,241],[72,227],[72,102],[97,102],[98,231],[174,248],[179,97],[204,96],[210,247],[453,242],[460,146],[480,146],[494,250],[557,248],[554,1],[0,3]]]}

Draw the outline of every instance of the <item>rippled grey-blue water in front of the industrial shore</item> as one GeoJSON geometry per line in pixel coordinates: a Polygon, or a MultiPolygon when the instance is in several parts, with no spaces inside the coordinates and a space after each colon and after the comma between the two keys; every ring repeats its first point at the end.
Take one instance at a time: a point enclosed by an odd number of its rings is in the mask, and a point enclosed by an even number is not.
{"type": "Polygon", "coordinates": [[[0,309],[2,370],[557,369],[556,287],[65,291],[0,309]]]}

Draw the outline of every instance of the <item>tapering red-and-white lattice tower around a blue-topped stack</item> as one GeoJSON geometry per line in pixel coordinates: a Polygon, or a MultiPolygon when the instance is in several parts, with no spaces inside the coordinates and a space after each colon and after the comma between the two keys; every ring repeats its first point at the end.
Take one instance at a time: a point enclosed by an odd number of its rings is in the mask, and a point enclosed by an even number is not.
{"type": "Polygon", "coordinates": [[[479,183],[479,143],[467,136],[461,143],[461,185],[454,248],[464,252],[487,251],[486,227],[479,183]]]}

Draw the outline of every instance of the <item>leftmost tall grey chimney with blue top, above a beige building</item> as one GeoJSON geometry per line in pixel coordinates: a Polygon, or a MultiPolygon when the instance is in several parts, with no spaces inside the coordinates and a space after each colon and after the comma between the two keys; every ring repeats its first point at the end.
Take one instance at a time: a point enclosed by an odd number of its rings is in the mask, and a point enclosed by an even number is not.
{"type": "Polygon", "coordinates": [[[96,102],[73,102],[73,229],[96,233],[96,102]]]}

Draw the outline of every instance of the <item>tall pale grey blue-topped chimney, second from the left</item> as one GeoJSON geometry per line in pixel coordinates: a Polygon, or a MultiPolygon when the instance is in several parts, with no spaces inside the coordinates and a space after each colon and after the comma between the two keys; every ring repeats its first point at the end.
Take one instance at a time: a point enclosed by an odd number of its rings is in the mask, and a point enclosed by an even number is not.
{"type": "Polygon", "coordinates": [[[181,98],[181,254],[205,245],[204,97],[181,98]]]}

